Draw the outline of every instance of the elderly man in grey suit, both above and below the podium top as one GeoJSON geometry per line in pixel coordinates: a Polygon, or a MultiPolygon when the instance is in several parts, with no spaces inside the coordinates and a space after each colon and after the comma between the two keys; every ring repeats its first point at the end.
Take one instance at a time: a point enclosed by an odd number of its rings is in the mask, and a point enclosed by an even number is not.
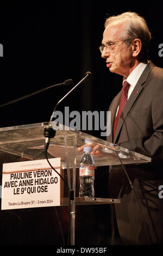
{"type": "Polygon", "coordinates": [[[109,108],[108,141],[152,158],[150,164],[126,166],[133,188],[121,166],[110,171],[109,195],[121,198],[112,209],[112,244],[163,241],[163,69],[147,60],[150,40],[146,21],[128,12],[106,19],[99,47],[110,72],[123,76],[109,108]]]}

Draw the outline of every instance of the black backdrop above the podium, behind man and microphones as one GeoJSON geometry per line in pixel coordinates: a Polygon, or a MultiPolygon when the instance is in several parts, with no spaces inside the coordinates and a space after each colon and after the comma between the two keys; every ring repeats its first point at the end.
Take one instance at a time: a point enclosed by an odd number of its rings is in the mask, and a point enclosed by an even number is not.
{"type": "MultiPolygon", "coordinates": [[[[114,1],[12,1],[1,3],[0,105],[69,78],[77,90],[58,110],[107,111],[120,90],[122,77],[111,74],[101,58],[104,21],[110,15],[135,11],[145,17],[152,33],[149,58],[163,67],[159,44],[163,43],[162,4],[114,1]]],[[[72,86],[57,87],[1,108],[0,127],[41,123],[51,117],[55,104],[72,86]]],[[[89,132],[89,131],[88,131],[89,132]]],[[[100,131],[90,131],[100,137],[100,131]]]]}

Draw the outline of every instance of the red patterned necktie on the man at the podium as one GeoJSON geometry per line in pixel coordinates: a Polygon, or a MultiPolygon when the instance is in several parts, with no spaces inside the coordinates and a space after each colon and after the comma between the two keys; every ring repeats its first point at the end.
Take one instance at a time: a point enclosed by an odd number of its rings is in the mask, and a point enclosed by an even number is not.
{"type": "Polygon", "coordinates": [[[130,84],[127,81],[124,81],[123,87],[122,87],[122,94],[121,94],[119,109],[118,109],[118,113],[116,115],[116,118],[114,121],[114,126],[113,126],[113,136],[114,137],[115,137],[115,133],[116,133],[117,125],[118,125],[118,120],[120,119],[123,108],[127,102],[129,86],[130,86],[130,84]]]}

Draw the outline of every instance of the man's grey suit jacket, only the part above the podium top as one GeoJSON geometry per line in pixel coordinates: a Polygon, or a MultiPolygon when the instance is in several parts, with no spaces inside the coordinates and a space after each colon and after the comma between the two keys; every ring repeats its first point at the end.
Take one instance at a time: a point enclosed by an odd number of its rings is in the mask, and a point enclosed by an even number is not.
{"type": "MultiPolygon", "coordinates": [[[[121,92],[111,102],[111,131],[121,92]]],[[[131,93],[109,142],[163,160],[163,69],[149,62],[131,93]]]]}

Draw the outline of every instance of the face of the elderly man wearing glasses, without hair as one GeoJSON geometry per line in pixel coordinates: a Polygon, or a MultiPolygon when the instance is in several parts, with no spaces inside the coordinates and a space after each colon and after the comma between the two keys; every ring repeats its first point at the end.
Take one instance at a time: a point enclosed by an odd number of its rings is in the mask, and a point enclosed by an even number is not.
{"type": "Polygon", "coordinates": [[[102,58],[106,59],[106,66],[111,72],[128,77],[134,65],[134,58],[131,46],[127,46],[123,39],[125,27],[122,23],[112,23],[106,27],[103,33],[102,45],[108,42],[116,42],[113,49],[104,47],[102,58]],[[122,40],[122,41],[121,41],[122,40]]]}

